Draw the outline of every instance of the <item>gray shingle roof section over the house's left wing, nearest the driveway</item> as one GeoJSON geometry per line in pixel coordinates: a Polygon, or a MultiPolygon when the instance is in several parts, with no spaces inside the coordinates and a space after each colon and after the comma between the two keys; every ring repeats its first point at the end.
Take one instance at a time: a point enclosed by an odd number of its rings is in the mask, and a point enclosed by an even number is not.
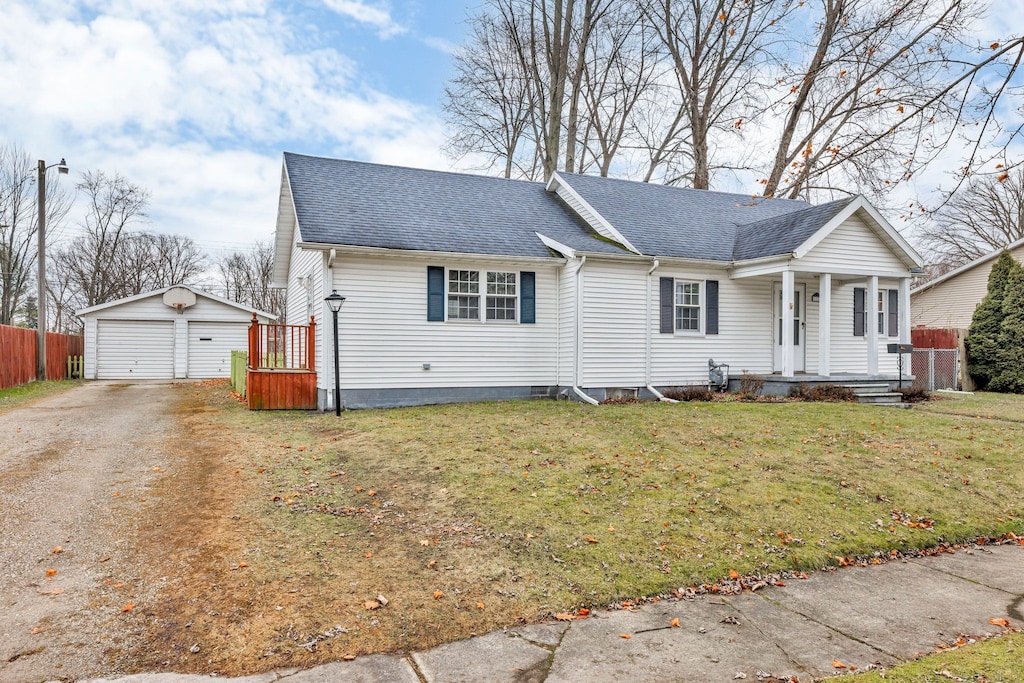
{"type": "Polygon", "coordinates": [[[535,231],[623,253],[542,183],[285,154],[303,242],[416,251],[551,256],[535,231]]]}

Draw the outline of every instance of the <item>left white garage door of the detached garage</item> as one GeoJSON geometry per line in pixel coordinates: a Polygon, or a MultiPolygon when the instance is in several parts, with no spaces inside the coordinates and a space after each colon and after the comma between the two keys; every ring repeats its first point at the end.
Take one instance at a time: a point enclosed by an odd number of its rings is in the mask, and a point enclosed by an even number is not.
{"type": "Polygon", "coordinates": [[[170,321],[97,321],[96,377],[101,380],[174,378],[170,321]]]}

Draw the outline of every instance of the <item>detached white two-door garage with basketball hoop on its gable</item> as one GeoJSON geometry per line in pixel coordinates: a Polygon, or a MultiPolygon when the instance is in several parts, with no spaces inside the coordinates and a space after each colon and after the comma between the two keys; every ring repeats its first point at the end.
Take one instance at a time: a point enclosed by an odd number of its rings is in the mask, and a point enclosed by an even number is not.
{"type": "MultiPolygon", "coordinates": [[[[230,377],[231,351],[248,347],[253,310],[178,285],[78,311],[85,377],[98,380],[230,377]]],[[[274,318],[255,311],[260,323],[274,318]]]]}

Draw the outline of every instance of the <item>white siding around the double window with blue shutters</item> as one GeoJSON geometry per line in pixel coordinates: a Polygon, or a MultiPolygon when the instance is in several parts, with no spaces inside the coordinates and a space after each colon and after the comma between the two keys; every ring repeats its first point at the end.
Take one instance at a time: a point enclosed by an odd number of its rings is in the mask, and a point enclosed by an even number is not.
{"type": "Polygon", "coordinates": [[[342,389],[555,384],[556,273],[555,264],[544,267],[536,262],[481,260],[452,265],[443,259],[339,257],[332,282],[347,297],[338,326],[342,389]],[[428,323],[430,265],[484,273],[536,272],[537,323],[428,323]],[[430,369],[424,370],[424,364],[430,369]]]}

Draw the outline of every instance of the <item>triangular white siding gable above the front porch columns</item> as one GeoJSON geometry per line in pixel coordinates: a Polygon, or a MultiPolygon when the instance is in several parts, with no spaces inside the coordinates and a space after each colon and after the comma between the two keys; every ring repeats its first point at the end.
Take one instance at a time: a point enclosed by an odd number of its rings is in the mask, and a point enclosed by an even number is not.
{"type": "Polygon", "coordinates": [[[801,268],[820,268],[826,272],[907,270],[906,264],[856,216],[843,221],[797,263],[801,268]]]}

